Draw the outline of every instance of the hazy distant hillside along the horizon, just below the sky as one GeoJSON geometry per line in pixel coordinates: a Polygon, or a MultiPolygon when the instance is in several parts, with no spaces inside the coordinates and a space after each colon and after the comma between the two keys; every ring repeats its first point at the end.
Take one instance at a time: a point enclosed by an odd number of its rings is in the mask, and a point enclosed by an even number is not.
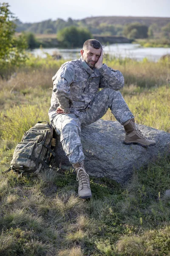
{"type": "Polygon", "coordinates": [[[163,26],[170,23],[170,17],[87,17],[82,20],[73,20],[68,18],[67,21],[62,19],[57,20],[43,20],[37,23],[22,23],[20,20],[16,20],[17,29],[16,32],[27,31],[38,34],[52,34],[57,33],[60,29],[66,26],[81,26],[89,29],[93,34],[103,34],[105,31],[109,31],[110,35],[122,35],[123,26],[127,23],[139,22],[146,26],[155,24],[157,29],[160,30],[163,26]],[[108,28],[112,26],[112,28],[108,28]],[[113,28],[114,26],[114,28],[113,28]]]}

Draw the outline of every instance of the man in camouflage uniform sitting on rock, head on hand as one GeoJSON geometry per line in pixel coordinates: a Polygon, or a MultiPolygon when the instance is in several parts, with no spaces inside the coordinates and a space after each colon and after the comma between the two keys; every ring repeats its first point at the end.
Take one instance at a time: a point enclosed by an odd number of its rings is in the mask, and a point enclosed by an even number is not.
{"type": "Polygon", "coordinates": [[[119,89],[124,86],[124,77],[119,70],[103,64],[103,49],[99,41],[85,41],[81,58],[62,64],[52,78],[54,87],[49,117],[60,134],[63,150],[73,165],[80,198],[91,198],[89,175],[84,167],[81,144],[81,126],[100,119],[108,110],[125,128],[124,143],[153,146],[135,123],[119,89]],[[99,91],[99,88],[103,88],[99,91]]]}

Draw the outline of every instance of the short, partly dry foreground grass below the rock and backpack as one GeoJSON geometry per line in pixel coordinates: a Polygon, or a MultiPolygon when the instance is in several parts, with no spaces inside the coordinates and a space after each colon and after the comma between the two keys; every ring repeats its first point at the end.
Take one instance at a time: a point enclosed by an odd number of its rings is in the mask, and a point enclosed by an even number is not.
{"type": "Polygon", "coordinates": [[[167,159],[159,160],[134,171],[125,186],[93,177],[91,201],[77,198],[72,172],[65,173],[73,183],[72,191],[66,185],[57,186],[55,192],[54,184],[64,175],[56,170],[48,174],[48,180],[58,175],[54,183],[44,182],[47,170],[34,180],[14,181],[12,174],[1,175],[8,188],[0,194],[0,242],[5,243],[1,254],[168,255],[170,203],[164,192],[170,184],[169,168],[167,159]]]}

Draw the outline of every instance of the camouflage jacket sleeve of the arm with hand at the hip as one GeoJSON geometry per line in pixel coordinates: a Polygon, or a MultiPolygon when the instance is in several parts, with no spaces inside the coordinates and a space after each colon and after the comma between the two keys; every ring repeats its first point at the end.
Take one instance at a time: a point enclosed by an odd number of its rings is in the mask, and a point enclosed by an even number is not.
{"type": "Polygon", "coordinates": [[[53,94],[57,98],[59,107],[66,113],[70,113],[71,109],[72,99],[70,94],[70,85],[74,81],[74,77],[74,66],[70,63],[65,63],[52,78],[54,84],[53,94]]]}

